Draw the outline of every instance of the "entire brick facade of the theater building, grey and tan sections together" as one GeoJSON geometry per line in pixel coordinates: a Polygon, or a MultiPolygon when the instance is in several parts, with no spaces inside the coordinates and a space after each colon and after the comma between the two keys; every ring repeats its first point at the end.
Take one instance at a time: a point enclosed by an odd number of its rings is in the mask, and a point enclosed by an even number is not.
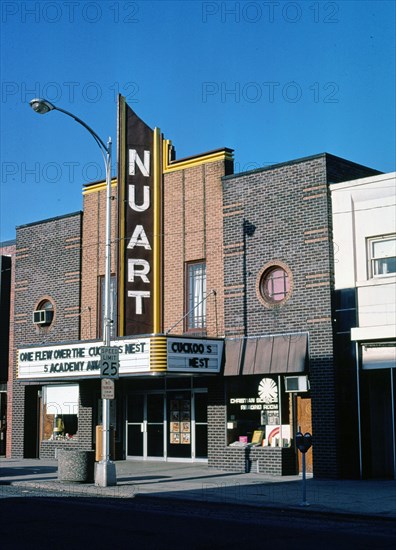
{"type": "MultiPolygon", "coordinates": [[[[208,294],[203,336],[308,333],[314,474],[338,477],[344,455],[339,444],[342,428],[337,383],[344,378],[339,376],[334,359],[334,257],[328,185],[376,172],[327,154],[237,175],[229,175],[230,156],[216,161],[196,157],[186,165],[178,162],[168,165],[163,185],[163,332],[173,326],[171,334],[185,331],[186,263],[203,260],[208,294]],[[263,269],[271,263],[285,266],[291,280],[290,298],[277,307],[265,304],[259,289],[263,269]]],[[[113,197],[116,195],[114,185],[113,197]]],[[[118,261],[116,209],[114,200],[114,274],[118,261]]],[[[100,338],[105,213],[105,185],[93,184],[84,190],[83,218],[75,213],[18,228],[12,354],[27,345],[100,338]],[[54,322],[39,328],[31,315],[45,297],[55,305],[54,322]]],[[[98,380],[79,383],[78,441],[43,441],[37,449],[41,386],[18,382],[15,366],[10,379],[9,456],[51,458],[55,449],[64,445],[93,447],[98,380]],[[29,433],[36,434],[35,438],[29,433]]],[[[227,378],[203,378],[202,383],[208,390],[209,466],[273,475],[295,472],[293,447],[227,446],[227,378]]],[[[124,408],[128,392],[148,387],[144,378],[119,381],[117,407],[124,408]]],[[[127,412],[119,412],[124,422],[127,412]]],[[[123,430],[117,437],[117,458],[121,458],[123,430]]]]}

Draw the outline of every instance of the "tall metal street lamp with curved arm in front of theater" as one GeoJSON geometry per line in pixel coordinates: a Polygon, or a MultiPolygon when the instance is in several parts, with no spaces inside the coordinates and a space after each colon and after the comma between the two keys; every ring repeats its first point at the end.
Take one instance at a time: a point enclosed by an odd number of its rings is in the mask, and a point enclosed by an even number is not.
{"type": "MultiPolygon", "coordinates": [[[[30,106],[36,113],[45,115],[50,111],[59,111],[71,117],[76,122],[84,126],[98,144],[106,169],[106,244],[105,244],[105,303],[103,313],[103,345],[110,346],[111,330],[111,310],[110,310],[110,276],[111,276],[111,138],[107,140],[107,145],[100,139],[98,134],[92,130],[83,120],[76,117],[69,111],[56,107],[46,99],[32,99],[30,106]]],[[[102,460],[97,464],[95,473],[95,484],[101,487],[116,485],[116,469],[114,462],[110,461],[110,402],[103,399],[103,443],[102,460]]]]}

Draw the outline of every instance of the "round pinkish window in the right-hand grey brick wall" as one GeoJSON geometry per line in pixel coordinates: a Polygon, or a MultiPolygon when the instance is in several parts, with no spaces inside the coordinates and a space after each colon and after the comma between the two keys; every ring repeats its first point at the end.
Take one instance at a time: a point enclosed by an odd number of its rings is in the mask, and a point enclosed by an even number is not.
{"type": "Polygon", "coordinates": [[[291,273],[286,265],[271,263],[260,273],[258,294],[264,305],[281,305],[291,294],[291,273]]]}

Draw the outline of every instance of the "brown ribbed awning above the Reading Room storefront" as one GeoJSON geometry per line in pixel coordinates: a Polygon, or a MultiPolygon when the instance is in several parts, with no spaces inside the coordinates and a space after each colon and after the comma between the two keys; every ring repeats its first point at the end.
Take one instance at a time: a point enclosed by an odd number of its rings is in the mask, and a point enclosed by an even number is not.
{"type": "Polygon", "coordinates": [[[302,373],[307,351],[306,332],[226,339],[224,376],[302,373]]]}

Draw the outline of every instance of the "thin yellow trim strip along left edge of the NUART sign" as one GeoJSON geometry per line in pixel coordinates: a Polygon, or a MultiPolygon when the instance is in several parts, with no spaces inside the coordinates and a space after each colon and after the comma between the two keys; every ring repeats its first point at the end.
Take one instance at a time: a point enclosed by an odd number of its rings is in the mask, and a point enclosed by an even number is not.
{"type": "Polygon", "coordinates": [[[119,120],[119,174],[120,185],[118,188],[118,207],[120,212],[119,227],[118,227],[118,315],[119,315],[119,335],[125,336],[125,124],[126,124],[126,107],[125,98],[120,96],[120,120],[119,120]]]}

